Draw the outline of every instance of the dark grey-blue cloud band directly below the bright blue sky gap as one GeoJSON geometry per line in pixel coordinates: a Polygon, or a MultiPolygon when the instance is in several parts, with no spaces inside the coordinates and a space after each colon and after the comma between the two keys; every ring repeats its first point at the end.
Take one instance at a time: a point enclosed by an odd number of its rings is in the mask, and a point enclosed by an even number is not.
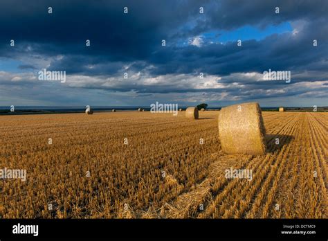
{"type": "Polygon", "coordinates": [[[152,61],[158,64],[155,74],[191,73],[192,71],[227,75],[235,72],[262,73],[268,69],[286,71],[327,70],[328,35],[323,21],[308,24],[301,33],[271,35],[261,41],[247,40],[242,47],[236,42],[188,46],[172,51],[161,50],[152,61]],[[313,39],[320,44],[313,47],[313,39]],[[319,40],[320,39],[320,40],[319,40]]]}

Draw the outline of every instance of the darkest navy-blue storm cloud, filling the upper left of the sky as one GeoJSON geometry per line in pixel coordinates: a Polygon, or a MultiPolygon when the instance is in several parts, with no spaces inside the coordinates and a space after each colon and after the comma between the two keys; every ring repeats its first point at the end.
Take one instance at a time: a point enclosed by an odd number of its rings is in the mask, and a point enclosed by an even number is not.
{"type": "Polygon", "coordinates": [[[109,60],[140,60],[198,8],[197,1],[5,1],[0,31],[17,44],[38,43],[35,51],[42,53],[82,52],[109,60]],[[91,40],[90,48],[85,48],[86,39],[91,40]],[[55,45],[55,51],[48,50],[47,44],[55,45]]]}

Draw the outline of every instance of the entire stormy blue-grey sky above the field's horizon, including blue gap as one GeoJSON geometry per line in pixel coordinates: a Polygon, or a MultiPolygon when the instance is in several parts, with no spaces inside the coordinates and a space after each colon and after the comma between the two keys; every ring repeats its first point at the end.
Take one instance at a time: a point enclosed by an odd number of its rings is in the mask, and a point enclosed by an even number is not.
{"type": "Polygon", "coordinates": [[[0,105],[327,106],[327,10],[325,0],[2,0],[0,105]],[[39,80],[44,69],[66,82],[39,80]],[[269,69],[291,82],[264,80],[269,69]]]}

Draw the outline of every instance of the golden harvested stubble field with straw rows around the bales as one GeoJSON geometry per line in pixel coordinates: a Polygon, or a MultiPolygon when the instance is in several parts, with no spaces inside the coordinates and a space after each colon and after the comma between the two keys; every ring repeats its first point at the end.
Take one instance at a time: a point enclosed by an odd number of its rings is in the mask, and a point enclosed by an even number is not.
{"type": "Polygon", "coordinates": [[[263,112],[264,156],[221,152],[218,113],[0,116],[0,168],[27,172],[0,179],[0,216],[327,217],[327,113],[263,112]]]}

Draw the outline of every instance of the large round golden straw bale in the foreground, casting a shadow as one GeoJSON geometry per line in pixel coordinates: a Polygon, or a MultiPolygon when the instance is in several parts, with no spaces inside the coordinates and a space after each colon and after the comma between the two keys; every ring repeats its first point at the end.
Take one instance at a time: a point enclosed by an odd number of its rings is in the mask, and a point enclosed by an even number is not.
{"type": "Polygon", "coordinates": [[[265,128],[257,102],[224,107],[219,112],[219,139],[226,154],[264,154],[265,128]]]}

